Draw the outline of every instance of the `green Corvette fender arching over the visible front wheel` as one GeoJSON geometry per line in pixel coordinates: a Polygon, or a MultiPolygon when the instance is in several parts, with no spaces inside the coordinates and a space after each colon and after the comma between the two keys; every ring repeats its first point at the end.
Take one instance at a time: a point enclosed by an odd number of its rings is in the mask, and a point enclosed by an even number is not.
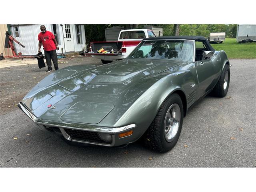
{"type": "MultiPolygon", "coordinates": [[[[180,90],[184,93],[185,98],[187,98],[187,95],[191,92],[190,85],[196,84],[196,80],[190,71],[169,72],[169,74],[163,73],[161,76],[162,78],[148,88],[121,116],[114,126],[119,127],[135,123],[140,129],[140,134],[143,134],[154,120],[164,100],[170,94],[180,90]]],[[[197,84],[195,86],[196,88],[197,84]]]]}

